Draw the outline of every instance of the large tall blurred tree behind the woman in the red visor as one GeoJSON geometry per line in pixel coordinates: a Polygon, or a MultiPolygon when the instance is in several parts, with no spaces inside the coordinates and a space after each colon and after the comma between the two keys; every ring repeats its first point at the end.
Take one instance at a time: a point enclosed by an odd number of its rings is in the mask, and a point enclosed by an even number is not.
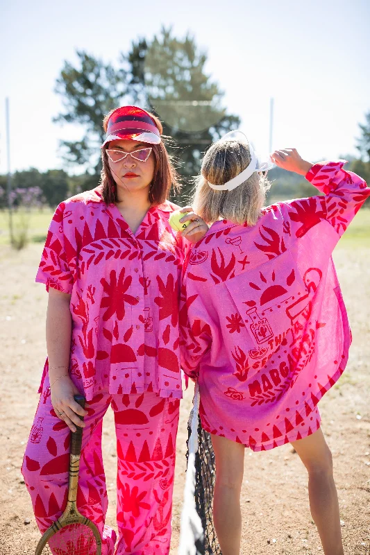
{"type": "MultiPolygon", "coordinates": [[[[133,42],[128,54],[121,53],[118,69],[85,51],[77,51],[77,56],[78,66],[66,61],[57,80],[65,113],[56,121],[85,128],[81,141],[65,141],[62,146],[67,162],[80,164],[95,176],[100,170],[96,152],[103,142],[103,117],[123,101],[160,117],[164,134],[174,138],[169,151],[185,177],[199,172],[201,155],[213,140],[239,125],[239,118],[222,107],[224,94],[205,74],[207,57],[190,35],[178,40],[171,29],[162,28],[158,37],[142,38],[133,42]]],[[[87,182],[90,179],[74,185],[84,190],[87,182]]]]}

